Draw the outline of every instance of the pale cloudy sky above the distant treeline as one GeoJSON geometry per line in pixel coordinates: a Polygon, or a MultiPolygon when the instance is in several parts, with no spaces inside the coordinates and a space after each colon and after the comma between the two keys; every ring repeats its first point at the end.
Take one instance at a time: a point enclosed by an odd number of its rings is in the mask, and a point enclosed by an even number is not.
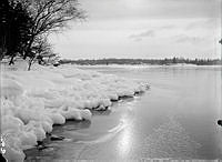
{"type": "Polygon", "coordinates": [[[62,58],[221,58],[221,0],[79,2],[87,19],[49,39],[62,58]]]}

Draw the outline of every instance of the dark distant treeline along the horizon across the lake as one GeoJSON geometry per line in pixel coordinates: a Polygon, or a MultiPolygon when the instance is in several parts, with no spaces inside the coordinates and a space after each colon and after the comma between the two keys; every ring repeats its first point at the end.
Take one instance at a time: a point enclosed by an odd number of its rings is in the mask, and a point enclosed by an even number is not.
{"type": "Polygon", "coordinates": [[[184,58],[172,58],[172,59],[99,59],[99,60],[60,60],[60,63],[72,63],[72,64],[175,64],[175,63],[188,63],[196,65],[214,65],[222,64],[220,59],[184,59],[184,58]]]}

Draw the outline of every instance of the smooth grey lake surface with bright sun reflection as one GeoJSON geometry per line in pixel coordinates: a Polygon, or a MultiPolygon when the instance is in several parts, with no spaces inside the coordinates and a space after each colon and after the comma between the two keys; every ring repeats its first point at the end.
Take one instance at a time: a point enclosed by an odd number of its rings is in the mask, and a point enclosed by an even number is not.
{"type": "Polygon", "coordinates": [[[80,67],[148,82],[134,99],[93,112],[91,122],[68,121],[26,151],[28,160],[222,159],[221,67],[80,67]]]}

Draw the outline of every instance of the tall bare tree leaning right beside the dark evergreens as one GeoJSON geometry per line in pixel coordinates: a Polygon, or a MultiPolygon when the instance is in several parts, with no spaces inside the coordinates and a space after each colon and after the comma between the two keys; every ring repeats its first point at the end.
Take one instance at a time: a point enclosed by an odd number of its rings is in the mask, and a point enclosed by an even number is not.
{"type": "Polygon", "coordinates": [[[82,20],[84,12],[79,9],[78,0],[21,0],[28,8],[34,26],[31,28],[23,58],[31,57],[34,41],[42,36],[60,31],[70,20],[82,20]],[[30,55],[31,54],[31,55],[30,55]]]}

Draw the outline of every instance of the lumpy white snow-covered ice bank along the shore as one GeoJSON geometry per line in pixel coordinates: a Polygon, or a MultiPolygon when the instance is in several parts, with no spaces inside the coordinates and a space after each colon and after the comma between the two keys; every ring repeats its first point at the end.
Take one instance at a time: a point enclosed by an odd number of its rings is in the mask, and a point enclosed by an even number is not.
{"type": "Polygon", "coordinates": [[[72,65],[1,72],[1,135],[9,161],[23,161],[22,150],[42,141],[53,124],[90,120],[91,109],[105,110],[111,101],[147,89],[138,81],[72,65]]]}

